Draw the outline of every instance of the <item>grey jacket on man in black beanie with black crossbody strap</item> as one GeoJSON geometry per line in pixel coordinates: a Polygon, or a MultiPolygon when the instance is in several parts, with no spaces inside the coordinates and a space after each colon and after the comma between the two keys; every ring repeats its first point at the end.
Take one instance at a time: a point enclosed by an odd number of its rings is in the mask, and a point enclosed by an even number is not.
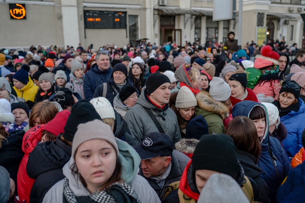
{"type": "Polygon", "coordinates": [[[134,136],[138,143],[151,132],[159,132],[156,125],[143,107],[149,108],[153,114],[157,114],[164,133],[169,135],[173,143],[181,139],[181,133],[177,121],[177,116],[173,110],[165,104],[163,108],[158,108],[150,101],[146,89],[137,100],[135,106],[131,107],[125,114],[124,120],[127,122],[127,132],[134,136]]]}

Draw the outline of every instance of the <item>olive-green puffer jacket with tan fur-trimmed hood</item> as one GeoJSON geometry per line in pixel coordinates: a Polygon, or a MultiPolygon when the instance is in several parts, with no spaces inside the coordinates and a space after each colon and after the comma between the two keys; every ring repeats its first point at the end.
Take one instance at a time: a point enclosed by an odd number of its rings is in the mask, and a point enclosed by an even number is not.
{"type": "Polygon", "coordinates": [[[223,103],[214,100],[210,97],[209,92],[201,91],[196,95],[198,107],[195,114],[203,115],[209,126],[209,134],[224,133],[223,119],[229,117],[230,110],[223,103]]]}

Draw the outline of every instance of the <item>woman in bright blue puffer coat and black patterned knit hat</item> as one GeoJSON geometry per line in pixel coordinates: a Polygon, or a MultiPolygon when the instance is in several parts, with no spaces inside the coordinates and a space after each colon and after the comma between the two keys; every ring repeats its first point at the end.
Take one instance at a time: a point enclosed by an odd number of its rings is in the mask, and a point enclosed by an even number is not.
{"type": "Polygon", "coordinates": [[[305,104],[299,98],[300,90],[300,85],[295,81],[285,81],[280,90],[278,100],[273,102],[278,107],[281,122],[288,131],[286,139],[283,140],[283,145],[289,158],[293,158],[302,148],[302,132],[305,128],[305,104]]]}

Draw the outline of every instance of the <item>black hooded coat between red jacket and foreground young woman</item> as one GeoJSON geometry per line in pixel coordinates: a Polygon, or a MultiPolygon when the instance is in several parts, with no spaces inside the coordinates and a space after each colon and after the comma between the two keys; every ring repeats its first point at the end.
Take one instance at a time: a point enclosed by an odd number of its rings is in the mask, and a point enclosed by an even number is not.
{"type": "Polygon", "coordinates": [[[63,166],[70,160],[71,147],[56,138],[56,141],[38,144],[27,161],[27,174],[35,179],[30,202],[42,202],[48,190],[65,178],[63,166]]]}

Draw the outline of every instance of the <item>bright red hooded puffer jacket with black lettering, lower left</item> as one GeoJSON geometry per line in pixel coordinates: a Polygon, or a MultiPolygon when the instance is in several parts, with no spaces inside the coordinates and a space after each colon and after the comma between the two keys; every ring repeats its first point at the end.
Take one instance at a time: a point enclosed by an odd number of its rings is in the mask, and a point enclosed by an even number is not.
{"type": "Polygon", "coordinates": [[[24,156],[20,162],[17,174],[17,188],[20,201],[27,200],[27,202],[30,202],[30,192],[35,179],[31,179],[27,175],[27,160],[34,147],[41,141],[44,127],[45,124],[37,125],[28,130],[23,136],[21,149],[24,152],[24,156]]]}

